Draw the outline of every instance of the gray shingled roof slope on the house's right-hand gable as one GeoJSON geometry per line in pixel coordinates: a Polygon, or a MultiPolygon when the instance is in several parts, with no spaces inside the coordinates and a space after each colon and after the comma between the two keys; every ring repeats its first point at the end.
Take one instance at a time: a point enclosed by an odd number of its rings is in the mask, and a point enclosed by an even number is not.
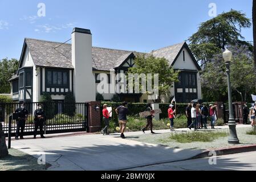
{"type": "Polygon", "coordinates": [[[152,51],[151,53],[155,57],[164,57],[169,61],[169,64],[172,65],[173,61],[175,60],[176,56],[178,55],[178,52],[180,52],[180,49],[185,44],[185,42],[175,44],[173,46],[165,47],[158,49],[156,51],[152,51]]]}

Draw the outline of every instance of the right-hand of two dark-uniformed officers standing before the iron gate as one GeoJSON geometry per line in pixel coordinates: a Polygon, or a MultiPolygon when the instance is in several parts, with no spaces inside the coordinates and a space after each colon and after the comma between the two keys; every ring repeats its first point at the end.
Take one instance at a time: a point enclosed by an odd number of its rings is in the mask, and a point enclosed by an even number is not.
{"type": "Polygon", "coordinates": [[[38,127],[40,129],[41,138],[45,138],[43,136],[44,112],[42,109],[42,104],[38,104],[38,109],[35,110],[34,116],[35,116],[35,118],[34,118],[34,121],[35,121],[34,138],[36,138],[38,127]]]}

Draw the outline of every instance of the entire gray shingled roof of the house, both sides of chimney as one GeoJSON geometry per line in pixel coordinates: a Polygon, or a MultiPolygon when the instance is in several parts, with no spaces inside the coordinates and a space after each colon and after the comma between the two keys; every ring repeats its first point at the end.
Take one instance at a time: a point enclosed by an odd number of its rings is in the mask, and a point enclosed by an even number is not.
{"type": "MultiPolygon", "coordinates": [[[[74,69],[72,66],[71,44],[29,38],[26,38],[25,41],[37,67],[74,69]]],[[[151,53],[155,57],[165,57],[172,64],[183,44],[184,42],[151,53]]],[[[109,69],[119,67],[131,53],[136,55],[140,52],[92,47],[92,67],[101,71],[109,71],[109,69]]]]}

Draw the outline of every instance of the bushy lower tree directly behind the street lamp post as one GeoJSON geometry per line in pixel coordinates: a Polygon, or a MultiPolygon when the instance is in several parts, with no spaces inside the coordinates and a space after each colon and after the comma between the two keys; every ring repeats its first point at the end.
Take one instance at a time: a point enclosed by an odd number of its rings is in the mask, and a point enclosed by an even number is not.
{"type": "MultiPolygon", "coordinates": [[[[253,55],[246,46],[231,46],[233,61],[230,65],[231,88],[236,101],[246,101],[253,93],[255,74],[253,55]]],[[[227,101],[227,78],[222,53],[214,55],[201,75],[202,93],[206,101],[227,101]],[[214,61],[213,61],[214,60],[214,61]]]]}

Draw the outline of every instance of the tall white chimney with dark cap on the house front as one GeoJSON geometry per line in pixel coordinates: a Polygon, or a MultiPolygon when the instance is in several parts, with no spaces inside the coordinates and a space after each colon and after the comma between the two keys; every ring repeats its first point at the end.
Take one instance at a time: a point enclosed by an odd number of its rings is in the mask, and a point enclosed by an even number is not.
{"type": "Polygon", "coordinates": [[[90,30],[74,28],[72,32],[72,65],[76,102],[96,100],[95,77],[92,74],[92,34],[90,30]]]}

